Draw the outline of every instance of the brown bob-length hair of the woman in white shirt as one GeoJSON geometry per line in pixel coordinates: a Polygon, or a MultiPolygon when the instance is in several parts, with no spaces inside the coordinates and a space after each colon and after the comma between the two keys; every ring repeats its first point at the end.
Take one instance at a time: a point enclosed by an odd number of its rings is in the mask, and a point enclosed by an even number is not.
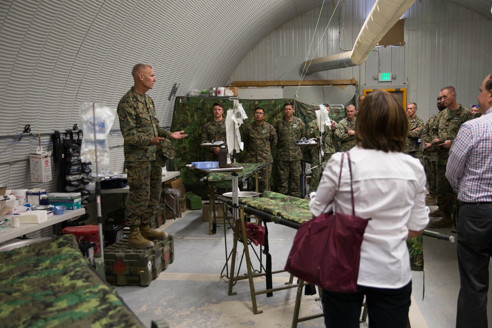
{"type": "Polygon", "coordinates": [[[364,149],[403,152],[408,118],[400,99],[387,91],[374,91],[357,111],[355,142],[364,149]]]}

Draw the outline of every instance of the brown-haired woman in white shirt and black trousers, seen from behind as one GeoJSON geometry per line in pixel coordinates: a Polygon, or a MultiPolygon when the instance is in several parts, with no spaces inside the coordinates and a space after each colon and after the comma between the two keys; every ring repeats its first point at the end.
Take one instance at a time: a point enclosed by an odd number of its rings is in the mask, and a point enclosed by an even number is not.
{"type": "MultiPolygon", "coordinates": [[[[349,152],[355,215],[372,220],[361,246],[357,292],[322,293],[326,327],[358,328],[364,296],[369,327],[406,327],[412,292],[406,239],[421,236],[429,222],[424,168],[403,153],[407,134],[406,113],[395,95],[375,91],[364,99],[357,112],[356,146],[349,152]]],[[[331,157],[317,192],[311,194],[314,216],[333,208],[340,159],[341,153],[331,157]]],[[[336,211],[351,214],[346,159],[336,211]]]]}

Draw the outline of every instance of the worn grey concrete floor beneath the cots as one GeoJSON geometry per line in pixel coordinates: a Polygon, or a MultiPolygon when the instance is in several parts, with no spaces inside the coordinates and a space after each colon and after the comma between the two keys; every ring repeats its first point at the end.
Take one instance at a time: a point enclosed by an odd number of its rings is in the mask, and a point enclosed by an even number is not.
{"type": "MultiPolygon", "coordinates": [[[[268,227],[272,267],[282,269],[296,231],[277,224],[268,227]]],[[[271,298],[257,296],[258,309],[263,310],[257,315],[252,312],[247,280],[238,281],[234,286],[237,295],[228,296],[228,281],[220,277],[225,263],[223,228],[219,226],[216,235],[208,235],[208,223],[202,222],[201,210],[187,210],[182,218],[167,221],[158,230],[174,235],[174,263],[148,287],[117,287],[120,296],[147,327],[151,327],[152,320],[159,319],[165,319],[170,328],[292,326],[295,288],[275,292],[271,298]]],[[[451,234],[450,228],[434,231],[451,234]]],[[[232,248],[230,230],[227,230],[227,246],[228,250],[232,248]]],[[[412,272],[411,327],[455,327],[460,288],[456,244],[424,237],[424,262],[424,272],[412,272]],[[422,299],[424,274],[425,297],[422,299]]],[[[243,265],[241,273],[244,272],[243,265]]],[[[274,275],[274,287],[287,280],[286,273],[274,275]]],[[[263,278],[255,279],[257,290],[263,289],[264,284],[263,278]]],[[[489,292],[489,298],[491,296],[489,292]]],[[[316,297],[303,296],[301,316],[322,312],[316,297]]],[[[489,304],[489,322],[492,323],[491,314],[489,304]]],[[[324,327],[324,323],[318,318],[300,323],[298,327],[324,327]]],[[[361,327],[368,325],[361,324],[361,327]]]]}

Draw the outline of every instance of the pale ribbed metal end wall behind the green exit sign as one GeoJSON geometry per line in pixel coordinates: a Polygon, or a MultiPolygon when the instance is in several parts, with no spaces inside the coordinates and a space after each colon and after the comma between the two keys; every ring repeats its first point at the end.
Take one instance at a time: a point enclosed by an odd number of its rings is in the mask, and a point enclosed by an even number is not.
{"type": "MultiPolygon", "coordinates": [[[[337,9],[334,16],[336,20],[330,24],[315,58],[339,53],[340,37],[342,46],[348,43],[351,48],[374,2],[374,0],[344,1],[342,7],[337,9]]],[[[313,74],[306,79],[355,77],[361,85],[361,90],[364,89],[364,85],[392,88],[393,85],[405,84],[408,86],[407,99],[417,102],[418,115],[422,119],[428,119],[431,113],[434,113],[435,98],[439,89],[445,86],[456,87],[458,101],[463,106],[469,107],[470,104],[476,103],[477,88],[481,81],[488,72],[492,71],[492,63],[486,59],[486,54],[489,54],[492,48],[492,33],[490,33],[492,21],[487,15],[484,17],[483,11],[478,14],[468,9],[473,6],[464,8],[455,2],[462,3],[462,1],[443,0],[415,1],[403,16],[406,18],[405,46],[377,47],[359,67],[331,70],[317,76],[313,74]],[[396,75],[396,79],[391,83],[377,82],[374,76],[379,72],[391,72],[396,75]]],[[[251,67],[249,58],[261,59],[261,51],[266,47],[265,42],[283,45],[277,47],[275,56],[291,57],[294,45],[303,45],[302,48],[298,47],[297,55],[306,56],[312,34],[315,33],[313,42],[315,49],[328,23],[333,6],[325,4],[320,24],[314,31],[320,10],[321,7],[309,10],[270,33],[259,43],[261,47],[255,46],[246,55],[245,60],[231,76],[231,81],[299,79],[300,75],[292,76],[292,74],[272,78],[271,72],[257,70],[251,74],[251,70],[248,69],[251,67]],[[292,34],[297,40],[290,40],[286,36],[291,27],[303,29],[292,34]]],[[[267,58],[267,60],[271,59],[267,58]]],[[[299,64],[297,61],[292,62],[292,65],[299,64]]],[[[254,65],[258,67],[262,64],[254,65]]]]}

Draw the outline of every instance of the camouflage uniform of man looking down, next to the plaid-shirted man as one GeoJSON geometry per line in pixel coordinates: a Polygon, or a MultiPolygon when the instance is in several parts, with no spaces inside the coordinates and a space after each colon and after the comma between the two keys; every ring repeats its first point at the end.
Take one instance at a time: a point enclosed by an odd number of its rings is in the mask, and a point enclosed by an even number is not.
{"type": "MultiPolygon", "coordinates": [[[[460,105],[455,111],[447,108],[437,114],[435,124],[431,128],[431,138],[439,138],[441,141],[453,140],[456,138],[460,126],[467,120],[473,119],[473,114],[460,105]]],[[[439,209],[451,215],[456,206],[456,194],[446,178],[446,164],[448,163],[449,149],[439,147],[436,162],[436,196],[439,201],[439,209]]]]}

